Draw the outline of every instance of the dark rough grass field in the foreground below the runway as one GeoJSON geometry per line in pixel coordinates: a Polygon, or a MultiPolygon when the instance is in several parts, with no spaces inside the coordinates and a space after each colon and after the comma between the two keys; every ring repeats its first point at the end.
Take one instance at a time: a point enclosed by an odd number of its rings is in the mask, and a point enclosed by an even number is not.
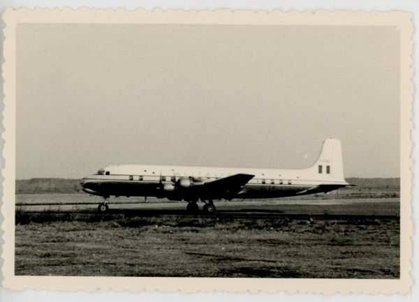
{"type": "MultiPolygon", "coordinates": [[[[397,202],[378,206],[398,213],[397,202]]],[[[17,212],[15,274],[399,278],[399,218],[369,207],[341,217],[303,207],[300,216],[17,212]]]]}

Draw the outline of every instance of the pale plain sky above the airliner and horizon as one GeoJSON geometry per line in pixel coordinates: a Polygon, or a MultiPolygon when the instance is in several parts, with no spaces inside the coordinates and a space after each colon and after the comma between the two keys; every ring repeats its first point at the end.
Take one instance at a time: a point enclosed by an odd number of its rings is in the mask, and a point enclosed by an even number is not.
{"type": "Polygon", "coordinates": [[[393,27],[19,24],[16,176],[109,163],[399,176],[393,27]]]}

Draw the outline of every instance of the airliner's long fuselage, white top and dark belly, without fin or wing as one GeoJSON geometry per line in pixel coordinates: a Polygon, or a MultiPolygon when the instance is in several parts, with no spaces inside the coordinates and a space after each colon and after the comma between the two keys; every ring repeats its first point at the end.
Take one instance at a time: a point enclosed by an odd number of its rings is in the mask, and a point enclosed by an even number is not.
{"type": "MultiPolygon", "coordinates": [[[[182,178],[193,178],[200,183],[235,174],[253,174],[237,198],[272,198],[304,194],[319,185],[346,186],[346,181],[332,180],[326,173],[312,175],[306,169],[245,169],[219,167],[175,167],[149,165],[117,165],[83,179],[84,188],[103,196],[156,196],[184,199],[182,196],[162,195],[164,184],[176,183],[182,178]],[[102,174],[103,173],[103,174],[102,174]]],[[[89,191],[87,191],[89,192],[89,191]]],[[[92,192],[91,192],[92,193],[92,192]]]]}

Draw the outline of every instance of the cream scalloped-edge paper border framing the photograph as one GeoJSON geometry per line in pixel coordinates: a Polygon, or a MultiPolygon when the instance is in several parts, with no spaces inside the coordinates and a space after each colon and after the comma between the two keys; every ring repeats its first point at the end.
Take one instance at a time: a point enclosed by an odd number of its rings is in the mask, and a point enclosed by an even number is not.
{"type": "Polygon", "coordinates": [[[1,214],[3,230],[3,282],[8,289],[58,289],[75,291],[84,289],[125,289],[138,292],[142,289],[197,292],[307,292],[307,293],[406,293],[412,285],[411,271],[411,149],[413,69],[411,59],[413,25],[411,13],[398,11],[362,13],[351,11],[317,11],[316,13],[288,13],[275,10],[99,10],[81,8],[71,10],[19,10],[8,9],[3,14],[6,28],[3,46],[4,110],[2,134],[5,142],[2,170],[3,200],[1,214]],[[20,23],[84,23],[84,24],[278,24],[278,25],[341,25],[341,26],[392,26],[400,32],[400,278],[378,279],[283,279],[283,278],[149,278],[149,277],[64,277],[14,275],[15,266],[15,101],[16,101],[16,28],[20,23]]]}

